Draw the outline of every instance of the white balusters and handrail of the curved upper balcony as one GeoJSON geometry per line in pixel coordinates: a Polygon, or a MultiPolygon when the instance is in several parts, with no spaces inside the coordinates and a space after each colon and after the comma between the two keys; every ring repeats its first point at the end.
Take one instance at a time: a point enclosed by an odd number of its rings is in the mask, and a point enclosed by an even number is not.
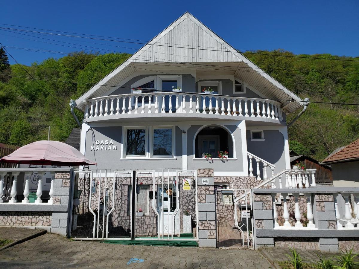
{"type": "Polygon", "coordinates": [[[281,103],[260,98],[239,98],[192,93],[141,93],[103,96],[88,100],[85,118],[120,114],[202,113],[228,117],[259,117],[283,122],[281,103]]]}

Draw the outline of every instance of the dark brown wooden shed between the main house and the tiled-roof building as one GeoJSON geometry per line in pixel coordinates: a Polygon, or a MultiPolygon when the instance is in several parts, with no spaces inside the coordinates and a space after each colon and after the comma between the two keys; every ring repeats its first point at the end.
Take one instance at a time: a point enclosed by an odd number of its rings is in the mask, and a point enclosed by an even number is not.
{"type": "Polygon", "coordinates": [[[303,154],[297,154],[295,151],[289,151],[290,165],[304,164],[307,169],[317,169],[316,183],[332,183],[332,169],[330,165],[321,165],[319,161],[303,154]]]}

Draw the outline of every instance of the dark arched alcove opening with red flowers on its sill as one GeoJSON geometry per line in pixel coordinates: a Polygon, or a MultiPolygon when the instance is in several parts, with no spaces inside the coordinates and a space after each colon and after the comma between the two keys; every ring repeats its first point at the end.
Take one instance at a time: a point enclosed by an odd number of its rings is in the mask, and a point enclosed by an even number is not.
{"type": "Polygon", "coordinates": [[[195,139],[195,157],[202,157],[202,153],[210,153],[213,158],[218,157],[218,151],[227,151],[228,157],[233,158],[232,135],[227,129],[211,125],[201,129],[195,139]]]}

